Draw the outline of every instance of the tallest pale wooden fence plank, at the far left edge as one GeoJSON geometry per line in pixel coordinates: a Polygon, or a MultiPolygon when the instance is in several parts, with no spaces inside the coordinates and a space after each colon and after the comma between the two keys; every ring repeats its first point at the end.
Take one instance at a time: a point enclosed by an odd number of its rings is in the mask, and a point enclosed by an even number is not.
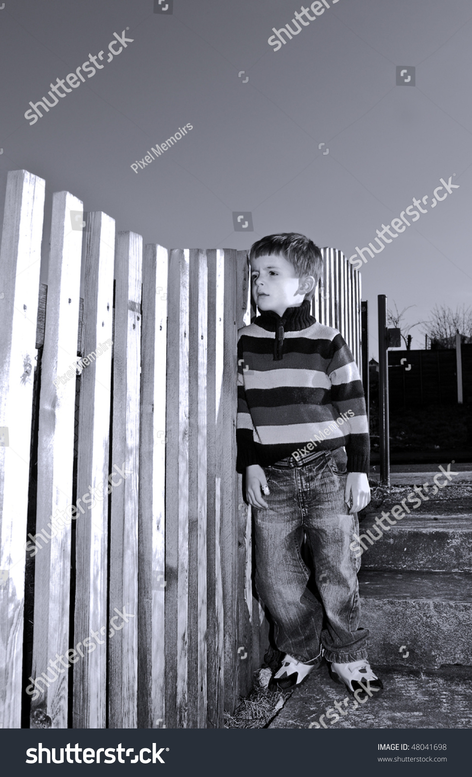
{"type": "Polygon", "coordinates": [[[0,727],[21,726],[26,515],[44,179],[9,172],[0,250],[0,727]]]}

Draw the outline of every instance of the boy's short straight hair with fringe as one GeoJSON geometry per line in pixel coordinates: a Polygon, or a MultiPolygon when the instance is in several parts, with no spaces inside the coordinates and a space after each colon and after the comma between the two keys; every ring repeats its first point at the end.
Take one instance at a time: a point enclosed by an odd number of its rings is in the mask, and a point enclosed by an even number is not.
{"type": "Polygon", "coordinates": [[[298,277],[313,275],[315,285],[312,291],[307,291],[305,299],[312,300],[316,290],[316,284],[323,273],[323,256],[313,240],[299,235],[298,232],[282,232],[280,235],[266,235],[257,240],[250,247],[249,261],[259,256],[274,254],[283,256],[295,268],[298,277]]]}

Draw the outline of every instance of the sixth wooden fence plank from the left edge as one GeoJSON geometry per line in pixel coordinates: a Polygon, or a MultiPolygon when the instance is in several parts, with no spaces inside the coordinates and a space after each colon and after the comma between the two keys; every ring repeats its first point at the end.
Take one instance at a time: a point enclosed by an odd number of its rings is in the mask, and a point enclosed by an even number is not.
{"type": "Polygon", "coordinates": [[[187,726],[189,252],[169,263],[166,413],[166,726],[187,726]]]}

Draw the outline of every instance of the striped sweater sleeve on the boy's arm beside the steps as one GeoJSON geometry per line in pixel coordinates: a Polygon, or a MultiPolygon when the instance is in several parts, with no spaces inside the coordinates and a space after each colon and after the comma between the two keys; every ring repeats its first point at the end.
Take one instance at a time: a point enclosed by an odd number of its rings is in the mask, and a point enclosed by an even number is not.
{"type": "Polygon", "coordinates": [[[364,389],[354,357],[341,334],[333,340],[334,354],[327,368],[331,382],[331,402],[337,413],[344,413],[348,428],[348,472],[365,472],[369,476],[369,420],[364,389]],[[348,416],[348,418],[346,417],[348,416]]]}

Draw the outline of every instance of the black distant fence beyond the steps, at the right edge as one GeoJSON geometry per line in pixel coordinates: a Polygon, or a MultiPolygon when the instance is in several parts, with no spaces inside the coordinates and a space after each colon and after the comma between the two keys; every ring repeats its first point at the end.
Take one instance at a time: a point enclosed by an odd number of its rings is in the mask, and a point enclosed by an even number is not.
{"type": "MultiPolygon", "coordinates": [[[[463,402],[472,401],[472,344],[462,343],[463,402]]],[[[390,350],[390,407],[457,404],[456,349],[390,350]],[[401,362],[403,361],[403,364],[401,362]]]]}

